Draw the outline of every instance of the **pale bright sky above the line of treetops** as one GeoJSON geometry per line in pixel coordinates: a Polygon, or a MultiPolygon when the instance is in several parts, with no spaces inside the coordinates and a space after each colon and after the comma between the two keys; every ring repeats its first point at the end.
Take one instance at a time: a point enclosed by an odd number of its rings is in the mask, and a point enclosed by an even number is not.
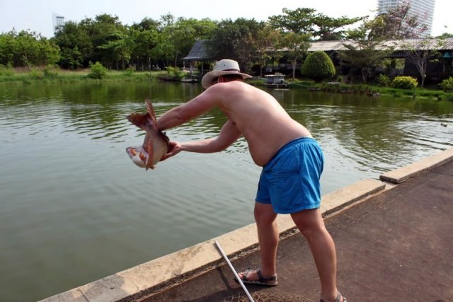
{"type": "MultiPolygon", "coordinates": [[[[452,0],[435,0],[431,35],[453,33],[452,6],[452,0]]],[[[144,18],[159,20],[167,13],[176,18],[198,20],[255,18],[256,21],[267,21],[269,16],[282,14],[282,8],[314,8],[317,13],[333,18],[374,17],[377,0],[0,0],[0,33],[14,28],[52,37],[52,13],[64,16],[65,21],[74,22],[108,13],[117,16],[124,25],[132,25],[144,18]]]]}

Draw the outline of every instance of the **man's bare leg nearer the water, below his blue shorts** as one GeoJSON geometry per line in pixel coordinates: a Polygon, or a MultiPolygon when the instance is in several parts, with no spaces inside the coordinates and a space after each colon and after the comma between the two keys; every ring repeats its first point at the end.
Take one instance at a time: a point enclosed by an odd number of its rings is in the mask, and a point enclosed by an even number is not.
{"type": "MultiPolygon", "coordinates": [[[[275,274],[275,263],[277,261],[278,228],[275,214],[270,204],[255,203],[255,221],[258,229],[258,240],[261,255],[261,274],[263,277],[271,277],[275,274]]],[[[241,273],[239,277],[242,278],[241,273]]],[[[247,279],[258,280],[256,272],[250,272],[247,279]]]]}

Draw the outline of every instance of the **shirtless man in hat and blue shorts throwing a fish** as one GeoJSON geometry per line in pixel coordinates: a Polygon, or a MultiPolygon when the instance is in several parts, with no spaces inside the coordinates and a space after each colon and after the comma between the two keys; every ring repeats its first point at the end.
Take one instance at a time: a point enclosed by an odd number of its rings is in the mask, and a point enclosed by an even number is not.
{"type": "Polygon", "coordinates": [[[239,273],[244,283],[273,286],[279,232],[277,214],[291,214],[308,241],[321,279],[321,301],[346,301],[336,287],[336,250],[319,211],[323,153],[309,130],[292,120],[272,95],[243,83],[250,78],[236,61],[223,59],[202,79],[206,91],[157,120],[165,130],[219,108],[228,121],[217,137],[171,141],[163,160],[180,151],[213,153],[243,136],[253,161],[263,167],[255,203],[261,268],[239,273]],[[283,172],[283,173],[282,173],[283,172]],[[279,179],[280,178],[280,179],[279,179]],[[285,187],[282,187],[285,185],[285,187]]]}

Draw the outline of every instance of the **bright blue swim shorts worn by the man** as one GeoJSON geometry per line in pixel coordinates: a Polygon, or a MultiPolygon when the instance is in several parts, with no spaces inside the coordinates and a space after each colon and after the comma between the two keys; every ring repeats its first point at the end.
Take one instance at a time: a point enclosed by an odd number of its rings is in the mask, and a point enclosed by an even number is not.
{"type": "Polygon", "coordinates": [[[324,156],[311,137],[289,141],[263,167],[256,202],[272,204],[277,214],[318,209],[324,156]]]}

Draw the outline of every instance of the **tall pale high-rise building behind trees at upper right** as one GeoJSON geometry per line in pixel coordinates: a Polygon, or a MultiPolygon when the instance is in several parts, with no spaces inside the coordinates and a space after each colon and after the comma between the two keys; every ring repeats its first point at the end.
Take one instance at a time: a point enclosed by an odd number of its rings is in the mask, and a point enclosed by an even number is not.
{"type": "Polygon", "coordinates": [[[419,20],[427,25],[428,29],[422,34],[423,37],[431,35],[435,0],[377,0],[377,13],[386,13],[389,9],[405,3],[410,4],[409,13],[418,16],[419,20]]]}

